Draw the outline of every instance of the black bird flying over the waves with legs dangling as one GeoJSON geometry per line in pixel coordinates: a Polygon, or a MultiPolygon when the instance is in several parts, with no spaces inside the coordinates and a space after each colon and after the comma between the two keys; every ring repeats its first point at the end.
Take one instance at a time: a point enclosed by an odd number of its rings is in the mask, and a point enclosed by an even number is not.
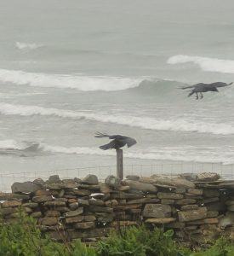
{"type": "Polygon", "coordinates": [[[185,90],[185,89],[193,88],[188,96],[191,96],[194,93],[196,93],[196,99],[198,100],[198,98],[199,98],[198,93],[200,94],[200,99],[202,99],[203,98],[203,92],[207,92],[207,91],[219,92],[219,90],[217,89],[218,87],[225,87],[225,86],[229,86],[231,84],[233,84],[233,82],[231,82],[230,84],[226,84],[226,83],[223,83],[223,82],[215,82],[215,83],[210,83],[210,84],[199,83],[199,84],[194,84],[194,85],[190,85],[190,86],[181,87],[180,89],[185,90]]]}

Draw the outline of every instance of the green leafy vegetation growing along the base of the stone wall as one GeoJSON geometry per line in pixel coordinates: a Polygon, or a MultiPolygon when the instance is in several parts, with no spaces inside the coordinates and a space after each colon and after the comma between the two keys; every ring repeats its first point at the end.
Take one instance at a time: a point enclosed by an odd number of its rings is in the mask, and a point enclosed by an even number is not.
{"type": "Polygon", "coordinates": [[[173,239],[174,231],[148,230],[145,226],[115,231],[96,247],[53,241],[36,220],[19,212],[14,222],[0,223],[0,256],[234,256],[234,245],[225,237],[205,252],[194,253],[173,239]]]}

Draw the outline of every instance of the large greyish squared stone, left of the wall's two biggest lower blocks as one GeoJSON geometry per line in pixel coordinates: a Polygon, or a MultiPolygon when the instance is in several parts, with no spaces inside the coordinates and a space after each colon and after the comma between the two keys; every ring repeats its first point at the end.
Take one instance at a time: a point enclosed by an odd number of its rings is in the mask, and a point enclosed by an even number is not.
{"type": "Polygon", "coordinates": [[[142,212],[146,218],[165,218],[171,216],[171,207],[162,204],[146,204],[142,212]]]}

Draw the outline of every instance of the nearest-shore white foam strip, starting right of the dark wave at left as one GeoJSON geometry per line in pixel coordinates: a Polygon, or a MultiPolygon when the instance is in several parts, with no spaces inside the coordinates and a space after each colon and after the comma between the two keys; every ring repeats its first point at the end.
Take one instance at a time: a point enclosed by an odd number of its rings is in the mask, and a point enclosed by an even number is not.
{"type": "MultiPolygon", "coordinates": [[[[43,151],[55,154],[91,154],[115,156],[114,150],[103,151],[99,148],[87,147],[61,147],[40,144],[43,151]]],[[[129,150],[129,149],[128,149],[129,150]]],[[[124,157],[141,160],[176,160],[185,162],[203,162],[203,163],[223,163],[234,164],[234,148],[192,148],[192,147],[171,147],[171,148],[147,148],[145,150],[130,149],[131,152],[125,152],[124,157]]]]}

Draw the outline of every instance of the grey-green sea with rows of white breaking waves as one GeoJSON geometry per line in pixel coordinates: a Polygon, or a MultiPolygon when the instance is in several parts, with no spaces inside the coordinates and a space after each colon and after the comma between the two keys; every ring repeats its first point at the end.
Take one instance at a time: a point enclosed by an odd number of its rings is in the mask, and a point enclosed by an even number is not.
{"type": "Polygon", "coordinates": [[[180,88],[234,81],[233,13],[231,0],[1,1],[2,190],[115,172],[97,131],[136,139],[126,175],[232,174],[234,86],[180,88]]]}

